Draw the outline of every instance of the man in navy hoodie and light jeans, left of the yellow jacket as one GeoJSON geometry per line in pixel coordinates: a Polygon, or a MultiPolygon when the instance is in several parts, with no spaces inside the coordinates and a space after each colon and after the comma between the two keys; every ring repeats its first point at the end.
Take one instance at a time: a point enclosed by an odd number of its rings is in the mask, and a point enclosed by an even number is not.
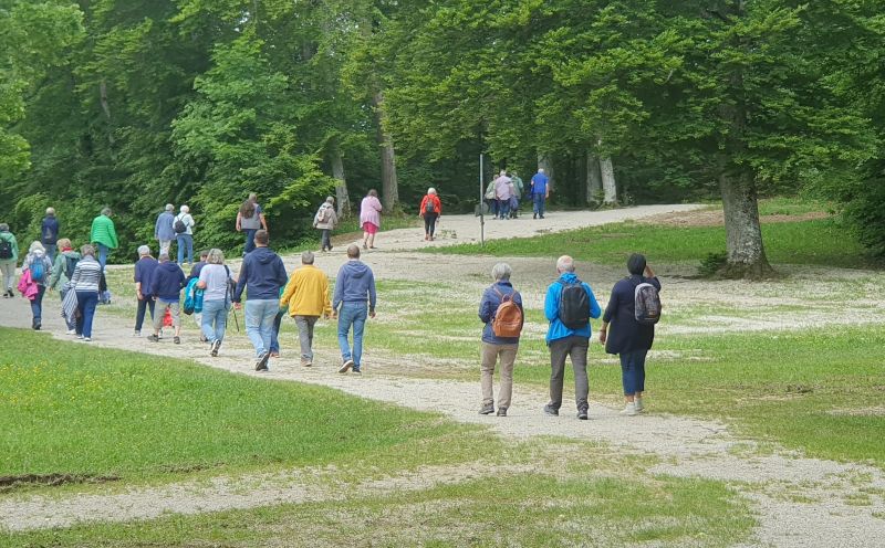
{"type": "Polygon", "coordinates": [[[268,249],[267,230],[256,232],[256,249],[247,253],[240,266],[240,277],[233,291],[233,303],[240,309],[246,292],[246,334],[256,348],[256,371],[267,371],[273,318],[280,309],[280,287],[289,281],[282,259],[268,249]]]}

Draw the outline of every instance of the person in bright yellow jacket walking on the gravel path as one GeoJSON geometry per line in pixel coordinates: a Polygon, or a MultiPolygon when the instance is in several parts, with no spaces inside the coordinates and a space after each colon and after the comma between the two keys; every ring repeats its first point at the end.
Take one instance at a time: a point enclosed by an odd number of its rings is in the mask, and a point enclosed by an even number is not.
{"type": "Polygon", "coordinates": [[[313,252],[301,254],[301,267],[295,268],[280,297],[280,307],[289,307],[289,315],[295,319],[301,342],[301,365],[313,365],[313,326],[322,315],[332,315],[329,299],[329,278],[323,271],[313,265],[313,252]]]}

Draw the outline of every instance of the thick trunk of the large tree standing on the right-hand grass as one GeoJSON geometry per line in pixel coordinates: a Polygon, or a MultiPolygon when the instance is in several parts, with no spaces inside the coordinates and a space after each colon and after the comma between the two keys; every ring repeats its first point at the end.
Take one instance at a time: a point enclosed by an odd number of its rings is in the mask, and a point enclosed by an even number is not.
{"type": "Polygon", "coordinates": [[[752,173],[723,172],[719,176],[726,219],[728,263],[719,274],[730,278],[758,280],[771,276],[759,225],[759,204],[752,173]]]}

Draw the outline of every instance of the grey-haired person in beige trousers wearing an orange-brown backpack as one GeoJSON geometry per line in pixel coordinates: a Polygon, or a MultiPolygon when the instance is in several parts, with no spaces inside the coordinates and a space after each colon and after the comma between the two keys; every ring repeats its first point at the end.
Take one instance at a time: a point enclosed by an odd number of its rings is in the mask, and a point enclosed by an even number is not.
{"type": "Polygon", "coordinates": [[[522,296],[513,289],[513,284],[510,283],[512,273],[513,271],[509,264],[496,264],[491,270],[491,277],[494,283],[482,292],[482,299],[479,303],[479,319],[486,324],[482,328],[482,342],[480,346],[482,407],[479,409],[479,414],[494,412],[492,380],[494,365],[499,360],[501,363],[501,387],[498,389],[498,417],[507,417],[507,410],[510,408],[510,399],[513,393],[513,362],[517,360],[517,351],[519,351],[519,336],[498,336],[494,334],[492,323],[504,299],[511,301],[522,313],[522,296]]]}

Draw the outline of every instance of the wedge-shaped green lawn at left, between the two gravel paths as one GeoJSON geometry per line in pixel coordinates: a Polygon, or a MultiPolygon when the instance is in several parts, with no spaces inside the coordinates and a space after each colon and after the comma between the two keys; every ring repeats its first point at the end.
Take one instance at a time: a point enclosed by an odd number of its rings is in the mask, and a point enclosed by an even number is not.
{"type": "Polygon", "coordinates": [[[498,446],[478,428],[331,389],[6,328],[0,417],[0,476],[137,479],[365,460],[384,471],[498,446]]]}

